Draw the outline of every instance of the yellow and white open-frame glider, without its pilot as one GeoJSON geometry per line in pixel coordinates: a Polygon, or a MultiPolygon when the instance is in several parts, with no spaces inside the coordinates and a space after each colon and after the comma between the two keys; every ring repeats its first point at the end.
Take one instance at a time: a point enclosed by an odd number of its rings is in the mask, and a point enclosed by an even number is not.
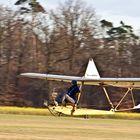
{"type": "MultiPolygon", "coordinates": [[[[135,111],[140,109],[140,104],[136,105],[133,89],[140,88],[140,78],[101,78],[99,72],[96,68],[96,65],[92,58],[89,59],[87,69],[85,75],[83,77],[78,76],[66,76],[66,75],[54,75],[54,74],[40,74],[40,73],[21,73],[20,76],[28,77],[28,78],[36,78],[36,79],[45,79],[52,81],[63,81],[63,82],[71,82],[72,80],[76,80],[77,83],[82,87],[83,85],[93,85],[100,86],[103,88],[104,94],[110,104],[110,110],[97,110],[97,109],[88,109],[88,108],[77,108],[73,113],[74,116],[88,116],[88,115],[99,115],[99,114],[113,114],[115,112],[120,111],[135,111]],[[127,91],[117,103],[117,105],[113,105],[109,94],[106,90],[106,87],[113,86],[119,88],[126,88],[127,91]],[[133,102],[132,108],[127,109],[118,109],[124,98],[130,94],[133,102]]],[[[82,94],[82,88],[81,94],[82,94]]],[[[51,114],[53,115],[71,115],[72,106],[51,106],[47,102],[44,102],[44,105],[47,106],[51,114]]]]}

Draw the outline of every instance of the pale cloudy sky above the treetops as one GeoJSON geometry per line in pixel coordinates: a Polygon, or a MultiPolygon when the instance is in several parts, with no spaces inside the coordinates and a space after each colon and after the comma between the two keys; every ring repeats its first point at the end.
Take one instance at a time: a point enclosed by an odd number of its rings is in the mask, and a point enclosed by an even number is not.
{"type": "MultiPolygon", "coordinates": [[[[17,0],[0,0],[0,4],[14,7],[17,0]]],[[[55,8],[65,0],[38,0],[44,7],[55,8]]],[[[120,21],[140,32],[140,0],[82,0],[92,6],[100,19],[106,19],[118,26],[120,21]]]]}

